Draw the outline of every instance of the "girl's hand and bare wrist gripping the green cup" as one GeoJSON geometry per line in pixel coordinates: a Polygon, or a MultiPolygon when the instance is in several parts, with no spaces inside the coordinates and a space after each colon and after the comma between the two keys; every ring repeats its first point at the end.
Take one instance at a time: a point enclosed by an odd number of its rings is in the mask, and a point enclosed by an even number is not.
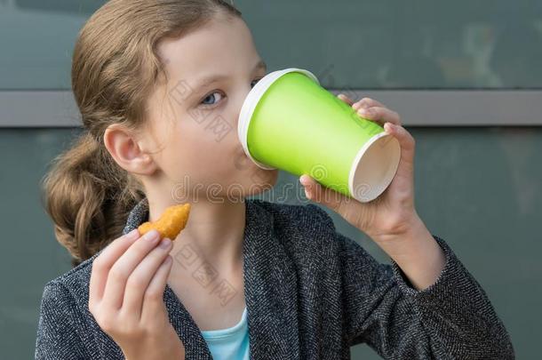
{"type": "Polygon", "coordinates": [[[363,118],[384,124],[384,130],[399,140],[401,160],[394,180],[369,203],[323,187],[308,175],[302,175],[299,181],[309,199],[330,207],[371,236],[403,269],[410,284],[425,289],[442,273],[446,257],[414,208],[414,138],[401,126],[399,115],[379,101],[364,98],[353,104],[343,94],[339,99],[352,105],[363,118]]]}

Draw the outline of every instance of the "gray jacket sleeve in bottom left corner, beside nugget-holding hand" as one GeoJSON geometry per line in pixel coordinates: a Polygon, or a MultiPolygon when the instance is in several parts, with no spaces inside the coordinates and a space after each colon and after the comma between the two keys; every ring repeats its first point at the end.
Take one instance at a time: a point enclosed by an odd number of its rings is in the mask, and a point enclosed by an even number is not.
{"type": "Polygon", "coordinates": [[[36,359],[90,359],[79,333],[76,302],[66,286],[49,282],[44,286],[37,325],[36,359]]]}

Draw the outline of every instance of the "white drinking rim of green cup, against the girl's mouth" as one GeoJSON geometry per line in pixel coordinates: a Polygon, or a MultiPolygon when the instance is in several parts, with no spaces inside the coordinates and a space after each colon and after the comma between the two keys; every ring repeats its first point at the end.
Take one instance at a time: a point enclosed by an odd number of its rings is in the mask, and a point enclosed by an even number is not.
{"type": "Polygon", "coordinates": [[[249,125],[251,124],[251,118],[254,114],[256,106],[258,105],[259,99],[263,96],[264,93],[267,92],[267,89],[269,89],[269,87],[273,83],[275,83],[275,81],[279,77],[291,72],[299,72],[301,74],[304,74],[309,78],[313,79],[316,84],[320,84],[318,78],[313,73],[303,68],[285,68],[283,70],[274,71],[267,74],[267,76],[262,77],[261,80],[259,80],[259,82],[254,85],[254,87],[251,89],[246,99],[244,100],[243,107],[241,108],[241,112],[239,114],[239,121],[237,123],[237,136],[239,137],[239,140],[241,140],[244,153],[252,160],[254,164],[257,164],[260,168],[265,170],[275,170],[276,168],[272,166],[267,166],[266,164],[262,164],[251,156],[248,147],[249,125]]]}

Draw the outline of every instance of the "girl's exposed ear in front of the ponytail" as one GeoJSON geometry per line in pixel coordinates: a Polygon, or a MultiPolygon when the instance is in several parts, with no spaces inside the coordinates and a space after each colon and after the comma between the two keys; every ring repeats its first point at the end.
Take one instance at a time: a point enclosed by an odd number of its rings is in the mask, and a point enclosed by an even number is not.
{"type": "Polygon", "coordinates": [[[154,158],[139,146],[134,134],[120,124],[108,126],[104,133],[104,144],[116,164],[127,172],[151,175],[157,169],[154,158]]]}

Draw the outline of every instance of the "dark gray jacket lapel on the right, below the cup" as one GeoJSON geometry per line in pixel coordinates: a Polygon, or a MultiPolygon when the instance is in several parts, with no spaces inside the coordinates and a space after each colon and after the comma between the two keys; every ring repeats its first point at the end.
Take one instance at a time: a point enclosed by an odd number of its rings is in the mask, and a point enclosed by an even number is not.
{"type": "Polygon", "coordinates": [[[276,236],[273,213],[247,200],[244,294],[252,358],[298,359],[296,269],[276,236]]]}

